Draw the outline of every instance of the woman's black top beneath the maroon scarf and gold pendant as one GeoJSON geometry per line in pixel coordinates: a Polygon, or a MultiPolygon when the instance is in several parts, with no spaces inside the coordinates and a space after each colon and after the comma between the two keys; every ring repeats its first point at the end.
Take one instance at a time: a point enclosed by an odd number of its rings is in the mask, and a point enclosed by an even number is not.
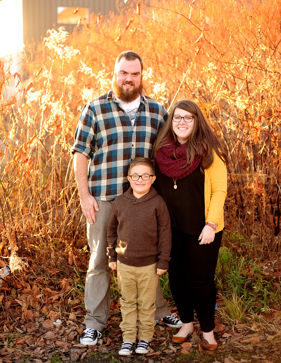
{"type": "Polygon", "coordinates": [[[153,187],[165,200],[174,228],[188,234],[200,234],[205,221],[204,182],[200,164],[189,175],[176,180],[162,174],[156,165],[153,187]]]}

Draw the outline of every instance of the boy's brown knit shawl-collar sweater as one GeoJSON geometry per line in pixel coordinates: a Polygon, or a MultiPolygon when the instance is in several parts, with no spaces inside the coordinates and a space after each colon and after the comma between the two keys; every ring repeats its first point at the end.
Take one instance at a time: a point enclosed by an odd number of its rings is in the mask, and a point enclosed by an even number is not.
{"type": "Polygon", "coordinates": [[[130,187],[112,205],[107,230],[109,262],[168,270],[171,221],[164,199],[151,187],[137,199],[130,187]]]}

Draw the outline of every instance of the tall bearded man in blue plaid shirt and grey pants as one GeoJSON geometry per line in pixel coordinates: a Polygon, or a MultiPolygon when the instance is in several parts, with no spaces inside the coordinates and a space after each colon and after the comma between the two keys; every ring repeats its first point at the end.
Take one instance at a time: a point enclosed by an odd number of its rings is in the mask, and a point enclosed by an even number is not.
{"type": "MultiPolygon", "coordinates": [[[[142,88],[139,54],[119,54],[112,89],[83,107],[71,148],[91,252],[85,284],[86,329],[80,338],[84,345],[98,342],[109,318],[111,269],[106,253],[112,202],[128,189],[129,163],[137,156],[150,156],[156,132],[168,118],[165,108],[142,94],[142,88]]],[[[182,325],[171,314],[159,284],[155,303],[156,320],[171,327],[182,325]]]]}

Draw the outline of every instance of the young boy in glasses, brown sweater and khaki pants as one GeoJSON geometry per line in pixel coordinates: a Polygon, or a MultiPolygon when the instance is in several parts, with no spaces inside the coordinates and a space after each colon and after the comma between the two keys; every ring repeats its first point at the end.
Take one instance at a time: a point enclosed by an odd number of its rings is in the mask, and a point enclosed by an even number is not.
{"type": "Polygon", "coordinates": [[[168,270],[171,250],[170,215],[152,187],[154,160],[138,157],[129,165],[131,187],[112,205],[108,223],[109,267],[117,266],[123,343],[120,355],[146,354],[154,332],[158,277],[168,270]]]}

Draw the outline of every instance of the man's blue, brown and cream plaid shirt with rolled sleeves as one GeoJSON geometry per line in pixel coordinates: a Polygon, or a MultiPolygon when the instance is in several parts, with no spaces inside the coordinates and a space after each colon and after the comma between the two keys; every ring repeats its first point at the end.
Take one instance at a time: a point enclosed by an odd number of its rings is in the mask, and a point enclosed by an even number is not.
{"type": "Polygon", "coordinates": [[[148,158],[166,109],[141,95],[134,125],[116,102],[112,90],[86,103],[81,112],[71,152],[90,160],[88,185],[99,200],[114,200],[128,189],[128,166],[137,156],[148,158]]]}

